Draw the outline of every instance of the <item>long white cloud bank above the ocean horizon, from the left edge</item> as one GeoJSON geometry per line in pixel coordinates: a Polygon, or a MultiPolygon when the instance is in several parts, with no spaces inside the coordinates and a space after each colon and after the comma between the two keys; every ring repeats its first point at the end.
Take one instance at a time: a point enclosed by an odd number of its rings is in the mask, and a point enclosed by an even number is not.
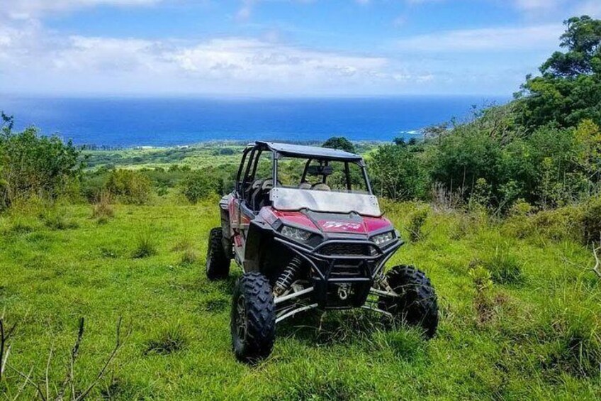
{"type": "Polygon", "coordinates": [[[0,27],[0,87],[7,92],[365,94],[432,79],[385,57],[254,38],[65,38],[36,23],[0,27]]]}

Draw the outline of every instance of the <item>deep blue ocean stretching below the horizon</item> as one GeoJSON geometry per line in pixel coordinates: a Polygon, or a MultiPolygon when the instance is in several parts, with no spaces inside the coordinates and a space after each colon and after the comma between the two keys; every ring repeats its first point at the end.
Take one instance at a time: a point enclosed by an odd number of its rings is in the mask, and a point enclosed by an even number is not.
{"type": "Polygon", "coordinates": [[[471,115],[508,97],[200,99],[0,97],[16,128],[36,126],[77,145],[189,145],[204,141],[391,141],[471,115]]]}

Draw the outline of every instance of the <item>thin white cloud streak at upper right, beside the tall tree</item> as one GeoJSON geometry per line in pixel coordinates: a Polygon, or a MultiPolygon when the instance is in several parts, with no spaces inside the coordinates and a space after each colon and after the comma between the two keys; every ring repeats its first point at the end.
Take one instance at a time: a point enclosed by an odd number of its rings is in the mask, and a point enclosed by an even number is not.
{"type": "Polygon", "coordinates": [[[399,50],[417,52],[473,52],[483,50],[538,50],[556,48],[561,24],[526,28],[483,28],[444,31],[398,40],[399,50]]]}

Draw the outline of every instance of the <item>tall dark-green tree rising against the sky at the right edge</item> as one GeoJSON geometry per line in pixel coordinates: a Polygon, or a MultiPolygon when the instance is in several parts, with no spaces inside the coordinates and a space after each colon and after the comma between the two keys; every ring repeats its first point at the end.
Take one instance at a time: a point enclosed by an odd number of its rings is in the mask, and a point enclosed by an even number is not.
{"type": "Polygon", "coordinates": [[[566,52],[551,55],[541,76],[527,76],[516,94],[519,122],[531,130],[549,122],[573,127],[584,119],[601,125],[601,20],[581,16],[564,24],[566,52]]]}

